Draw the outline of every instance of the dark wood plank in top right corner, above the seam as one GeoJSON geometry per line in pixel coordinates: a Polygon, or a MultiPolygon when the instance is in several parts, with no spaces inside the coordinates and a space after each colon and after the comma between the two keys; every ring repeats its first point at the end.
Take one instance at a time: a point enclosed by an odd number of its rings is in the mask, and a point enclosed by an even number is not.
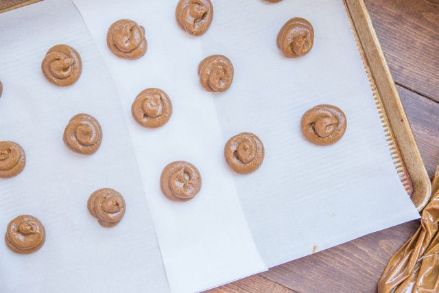
{"type": "Polygon", "coordinates": [[[365,2],[395,82],[439,102],[439,1],[365,2]]]}

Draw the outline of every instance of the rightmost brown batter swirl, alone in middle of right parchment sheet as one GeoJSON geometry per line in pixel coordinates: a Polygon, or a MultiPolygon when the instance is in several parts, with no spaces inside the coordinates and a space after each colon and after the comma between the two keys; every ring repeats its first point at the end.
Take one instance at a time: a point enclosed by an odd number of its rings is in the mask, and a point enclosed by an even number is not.
{"type": "Polygon", "coordinates": [[[305,137],[316,145],[331,145],[346,132],[346,116],[340,108],[318,105],[305,112],[300,122],[305,137]]]}

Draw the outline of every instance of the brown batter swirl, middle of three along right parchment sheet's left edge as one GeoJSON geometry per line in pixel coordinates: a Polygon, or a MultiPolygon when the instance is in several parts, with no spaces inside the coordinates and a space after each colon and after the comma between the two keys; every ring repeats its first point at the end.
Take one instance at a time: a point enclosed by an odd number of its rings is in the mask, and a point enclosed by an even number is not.
{"type": "Polygon", "coordinates": [[[226,91],[233,82],[232,62],[223,55],[204,58],[198,65],[201,85],[206,91],[226,91]]]}

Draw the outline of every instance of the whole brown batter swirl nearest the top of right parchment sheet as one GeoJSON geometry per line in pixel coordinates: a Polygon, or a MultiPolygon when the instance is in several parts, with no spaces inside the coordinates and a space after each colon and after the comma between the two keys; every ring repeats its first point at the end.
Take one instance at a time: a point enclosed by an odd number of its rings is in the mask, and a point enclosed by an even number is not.
{"type": "Polygon", "coordinates": [[[304,56],[314,45],[314,29],[306,19],[295,17],[283,25],[277,35],[277,46],[288,58],[304,56]]]}

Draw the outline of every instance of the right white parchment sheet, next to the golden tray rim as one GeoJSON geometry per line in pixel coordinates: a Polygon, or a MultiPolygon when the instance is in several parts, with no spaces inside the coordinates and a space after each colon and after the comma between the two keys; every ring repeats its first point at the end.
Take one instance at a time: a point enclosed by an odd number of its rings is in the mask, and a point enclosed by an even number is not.
{"type": "Polygon", "coordinates": [[[234,176],[265,263],[276,266],[314,246],[323,250],[419,218],[390,157],[343,2],[213,3],[203,52],[224,54],[235,66],[233,85],[212,97],[224,142],[250,131],[265,145],[261,168],[234,176]],[[312,23],[315,43],[307,56],[289,59],[276,35],[295,16],[312,23]],[[346,134],[334,145],[302,136],[300,119],[318,104],[346,114],[346,134]]]}

